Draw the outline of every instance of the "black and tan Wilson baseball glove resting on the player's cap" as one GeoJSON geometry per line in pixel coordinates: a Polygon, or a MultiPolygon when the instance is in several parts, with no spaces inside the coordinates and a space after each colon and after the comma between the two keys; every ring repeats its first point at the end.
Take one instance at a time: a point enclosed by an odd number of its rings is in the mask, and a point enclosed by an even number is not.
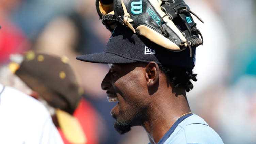
{"type": "Polygon", "coordinates": [[[203,21],[183,0],[96,0],[96,8],[110,31],[119,22],[171,51],[189,47],[190,57],[191,47],[203,44],[190,13],[203,21]]]}

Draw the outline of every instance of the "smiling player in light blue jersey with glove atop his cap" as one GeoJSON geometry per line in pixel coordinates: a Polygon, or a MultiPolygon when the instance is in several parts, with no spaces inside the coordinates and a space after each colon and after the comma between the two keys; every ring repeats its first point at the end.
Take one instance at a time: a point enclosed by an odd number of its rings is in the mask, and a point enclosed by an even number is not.
{"type": "Polygon", "coordinates": [[[101,87],[116,102],[115,129],[123,134],[142,126],[151,144],[223,144],[187,101],[203,38],[185,2],[97,0],[96,7],[112,35],[105,52],[77,59],[109,65],[101,87]]]}

